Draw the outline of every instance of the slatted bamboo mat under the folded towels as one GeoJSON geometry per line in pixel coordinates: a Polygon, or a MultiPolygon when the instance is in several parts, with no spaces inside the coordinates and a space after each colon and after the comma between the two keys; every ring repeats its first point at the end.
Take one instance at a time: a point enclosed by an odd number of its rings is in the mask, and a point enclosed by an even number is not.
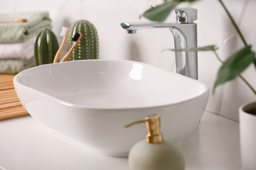
{"type": "Polygon", "coordinates": [[[0,121],[30,115],[16,95],[12,82],[14,76],[0,74],[0,121]]]}

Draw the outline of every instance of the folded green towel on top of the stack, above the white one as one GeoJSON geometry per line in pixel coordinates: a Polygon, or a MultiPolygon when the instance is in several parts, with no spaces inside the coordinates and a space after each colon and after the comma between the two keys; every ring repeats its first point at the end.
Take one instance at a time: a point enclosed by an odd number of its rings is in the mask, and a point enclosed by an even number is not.
{"type": "Polygon", "coordinates": [[[28,22],[22,23],[0,23],[0,43],[24,42],[41,29],[51,29],[49,12],[16,12],[12,14],[0,14],[1,18],[24,18],[28,22]]]}

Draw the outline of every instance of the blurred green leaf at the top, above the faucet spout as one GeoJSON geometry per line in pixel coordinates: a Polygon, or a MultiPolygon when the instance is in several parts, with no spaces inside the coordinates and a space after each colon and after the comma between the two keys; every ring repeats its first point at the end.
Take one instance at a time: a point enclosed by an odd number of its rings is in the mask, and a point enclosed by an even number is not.
{"type": "Polygon", "coordinates": [[[148,20],[163,22],[178,4],[179,1],[165,1],[161,5],[146,10],[141,16],[148,18],[148,20]]]}

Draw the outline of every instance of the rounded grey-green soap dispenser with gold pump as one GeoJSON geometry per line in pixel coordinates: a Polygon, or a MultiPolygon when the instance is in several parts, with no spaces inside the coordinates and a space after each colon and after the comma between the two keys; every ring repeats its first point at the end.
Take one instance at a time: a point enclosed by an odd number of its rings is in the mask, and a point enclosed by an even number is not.
{"type": "Polygon", "coordinates": [[[160,132],[160,116],[150,115],[145,120],[132,122],[125,127],[146,122],[146,140],[135,144],[129,152],[131,170],[184,170],[184,157],[179,150],[163,141],[160,132]]]}

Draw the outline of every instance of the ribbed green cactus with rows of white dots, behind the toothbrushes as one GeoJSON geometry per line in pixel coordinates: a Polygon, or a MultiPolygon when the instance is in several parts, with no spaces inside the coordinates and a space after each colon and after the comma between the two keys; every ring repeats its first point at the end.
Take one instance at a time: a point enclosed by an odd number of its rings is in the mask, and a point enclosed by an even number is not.
{"type": "Polygon", "coordinates": [[[77,46],[75,46],[68,61],[79,59],[98,59],[98,33],[95,26],[87,20],[78,20],[74,22],[68,33],[68,50],[70,50],[74,43],[74,41],[72,41],[72,37],[75,33],[81,33],[82,37],[77,46]]]}

